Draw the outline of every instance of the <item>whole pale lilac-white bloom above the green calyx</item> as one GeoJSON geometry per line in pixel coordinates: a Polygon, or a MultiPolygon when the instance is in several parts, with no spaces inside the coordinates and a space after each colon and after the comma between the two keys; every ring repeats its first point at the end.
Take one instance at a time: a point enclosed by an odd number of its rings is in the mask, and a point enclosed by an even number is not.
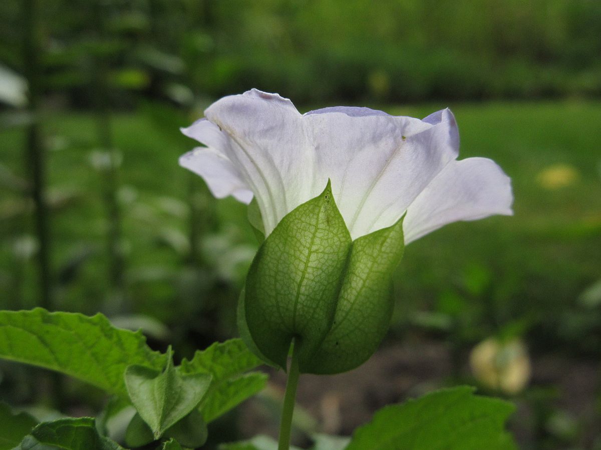
{"type": "Polygon", "coordinates": [[[494,161],[457,161],[459,131],[448,109],[414,119],[358,107],[299,113],[278,94],[221,98],[183,129],[206,145],[180,164],[218,198],[234,196],[263,217],[266,236],[328,179],[353,239],[404,212],[405,242],[445,224],[513,214],[510,179],[494,161]]]}

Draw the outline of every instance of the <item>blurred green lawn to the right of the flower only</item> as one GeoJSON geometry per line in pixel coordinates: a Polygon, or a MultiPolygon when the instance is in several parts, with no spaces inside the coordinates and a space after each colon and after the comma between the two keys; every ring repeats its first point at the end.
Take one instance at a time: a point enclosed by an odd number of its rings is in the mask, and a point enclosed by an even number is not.
{"type": "MultiPolygon", "coordinates": [[[[512,179],[515,215],[451,224],[407,247],[397,293],[398,303],[409,306],[398,310],[444,309],[451,292],[481,311],[485,320],[474,323],[480,334],[525,319],[526,328],[557,335],[564,313],[601,277],[601,129],[595,125],[601,105],[490,103],[451,109],[460,128],[460,158],[489,157],[503,167],[512,179]],[[548,178],[568,172],[572,179],[555,188],[545,185],[550,167],[557,169],[548,178]],[[489,326],[482,329],[483,323],[489,326]]],[[[396,112],[423,116],[432,110],[396,112]]]]}

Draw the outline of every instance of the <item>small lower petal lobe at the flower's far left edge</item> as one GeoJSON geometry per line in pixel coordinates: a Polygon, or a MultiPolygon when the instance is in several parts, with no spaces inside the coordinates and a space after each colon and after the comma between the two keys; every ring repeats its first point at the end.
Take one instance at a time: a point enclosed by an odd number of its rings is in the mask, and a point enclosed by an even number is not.
{"type": "Polygon", "coordinates": [[[202,176],[213,196],[218,199],[231,195],[247,205],[252,200],[252,191],[246,187],[236,167],[211,147],[198,147],[182,155],[180,166],[202,176]]]}

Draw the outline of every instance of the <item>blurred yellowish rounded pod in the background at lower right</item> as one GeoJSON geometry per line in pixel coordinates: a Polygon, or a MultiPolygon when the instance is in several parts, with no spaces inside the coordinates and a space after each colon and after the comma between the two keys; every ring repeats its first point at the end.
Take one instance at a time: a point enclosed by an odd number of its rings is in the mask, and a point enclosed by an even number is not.
{"type": "Polygon", "coordinates": [[[530,380],[528,350],[519,339],[501,343],[488,338],[474,347],[469,364],[479,382],[507,394],[519,393],[530,380]]]}

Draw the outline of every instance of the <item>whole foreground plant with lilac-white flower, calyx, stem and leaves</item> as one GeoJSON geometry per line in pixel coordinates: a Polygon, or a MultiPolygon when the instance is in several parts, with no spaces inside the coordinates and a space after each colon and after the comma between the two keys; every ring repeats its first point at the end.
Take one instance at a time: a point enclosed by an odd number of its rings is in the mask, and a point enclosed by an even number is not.
{"type": "MultiPolygon", "coordinates": [[[[224,450],[287,450],[304,373],[363,364],[382,342],[392,273],[405,245],[455,221],[512,214],[510,179],[492,160],[459,156],[450,110],[424,119],[358,107],[301,115],[252,91],[213,103],[182,130],[203,144],[180,158],[215,197],[248,205],[261,244],[237,307],[240,338],[174,364],[141,332],[102,314],[0,312],[0,358],[48,368],[111,396],[96,418],[39,422],[0,404],[0,449],[201,448],[207,424],[287,373],[278,442],[224,450]],[[121,435],[118,418],[126,417],[121,435]]],[[[469,225],[466,225],[469,226],[469,225]]],[[[441,389],[386,406],[352,436],[313,436],[316,450],[511,449],[514,407],[474,388],[441,389]]]]}

